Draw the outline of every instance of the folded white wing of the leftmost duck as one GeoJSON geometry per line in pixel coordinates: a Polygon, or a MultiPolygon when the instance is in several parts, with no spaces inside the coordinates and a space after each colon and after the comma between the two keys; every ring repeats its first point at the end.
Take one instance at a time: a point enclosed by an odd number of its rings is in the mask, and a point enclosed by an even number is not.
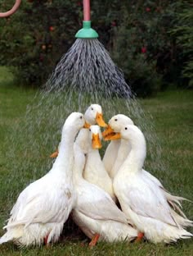
{"type": "MultiPolygon", "coordinates": [[[[45,179],[47,181],[47,179],[45,179]]],[[[40,179],[30,184],[18,197],[7,226],[62,222],[70,205],[70,189],[40,179]],[[64,193],[65,192],[65,193],[64,193]]]]}

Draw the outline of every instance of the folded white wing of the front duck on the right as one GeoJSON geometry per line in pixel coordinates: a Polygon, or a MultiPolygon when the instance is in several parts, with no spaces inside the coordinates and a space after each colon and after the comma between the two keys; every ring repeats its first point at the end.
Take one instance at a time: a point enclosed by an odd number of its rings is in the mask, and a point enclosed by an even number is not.
{"type": "Polygon", "coordinates": [[[154,182],[144,180],[143,176],[132,178],[129,185],[125,186],[124,202],[138,215],[177,226],[163,191],[154,182]]]}

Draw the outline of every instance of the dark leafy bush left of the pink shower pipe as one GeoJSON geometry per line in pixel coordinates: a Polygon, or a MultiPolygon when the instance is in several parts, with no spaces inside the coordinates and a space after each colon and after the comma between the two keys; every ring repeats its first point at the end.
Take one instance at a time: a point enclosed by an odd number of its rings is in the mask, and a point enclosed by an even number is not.
{"type": "Polygon", "coordinates": [[[1,65],[15,66],[25,84],[41,85],[73,43],[81,21],[78,3],[23,1],[15,15],[1,21],[1,65]]]}

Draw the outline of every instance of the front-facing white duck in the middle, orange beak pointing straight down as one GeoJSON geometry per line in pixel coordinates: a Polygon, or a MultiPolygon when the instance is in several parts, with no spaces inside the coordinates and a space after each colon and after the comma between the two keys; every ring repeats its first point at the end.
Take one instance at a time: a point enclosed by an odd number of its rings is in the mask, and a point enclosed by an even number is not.
{"type": "Polygon", "coordinates": [[[90,126],[88,133],[88,153],[83,170],[83,178],[86,181],[101,187],[101,189],[110,194],[111,198],[115,201],[113,184],[110,176],[105,171],[105,167],[101,161],[101,155],[98,150],[102,147],[100,126],[90,126]]]}

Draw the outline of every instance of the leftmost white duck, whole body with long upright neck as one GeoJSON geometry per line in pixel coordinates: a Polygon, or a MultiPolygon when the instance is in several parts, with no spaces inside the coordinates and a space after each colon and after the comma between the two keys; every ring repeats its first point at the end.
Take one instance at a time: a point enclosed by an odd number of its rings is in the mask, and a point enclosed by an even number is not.
{"type": "Polygon", "coordinates": [[[85,123],[83,114],[73,112],[62,129],[60,153],[52,169],[23,190],[8,220],[0,244],[40,245],[59,239],[74,205],[72,171],[74,139],[85,123]]]}

